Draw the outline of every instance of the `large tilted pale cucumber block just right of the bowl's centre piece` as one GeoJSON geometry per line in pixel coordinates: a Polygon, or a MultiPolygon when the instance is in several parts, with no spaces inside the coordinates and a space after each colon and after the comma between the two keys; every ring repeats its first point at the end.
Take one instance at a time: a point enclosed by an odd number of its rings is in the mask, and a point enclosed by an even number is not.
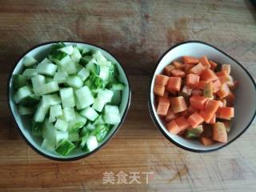
{"type": "Polygon", "coordinates": [[[78,98],[78,102],[80,104],[81,109],[86,108],[87,106],[90,106],[94,103],[94,96],[90,92],[90,89],[88,86],[83,86],[79,90],[75,91],[75,94],[78,98]]]}

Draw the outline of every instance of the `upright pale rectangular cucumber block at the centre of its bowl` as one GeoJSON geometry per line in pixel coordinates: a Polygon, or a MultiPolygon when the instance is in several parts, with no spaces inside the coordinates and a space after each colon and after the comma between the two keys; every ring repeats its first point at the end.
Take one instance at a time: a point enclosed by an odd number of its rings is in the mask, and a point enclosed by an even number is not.
{"type": "Polygon", "coordinates": [[[69,88],[62,88],[59,91],[61,98],[62,98],[62,106],[63,107],[74,107],[74,93],[71,87],[69,88]]]}

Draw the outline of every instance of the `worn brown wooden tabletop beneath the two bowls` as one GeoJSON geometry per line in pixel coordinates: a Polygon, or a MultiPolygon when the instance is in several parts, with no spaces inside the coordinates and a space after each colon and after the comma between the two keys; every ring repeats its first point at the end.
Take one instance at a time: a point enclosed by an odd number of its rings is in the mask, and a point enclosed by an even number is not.
{"type": "MultiPolygon", "coordinates": [[[[171,144],[150,119],[150,74],[168,47],[209,42],[256,77],[256,10],[249,1],[0,1],[1,191],[256,191],[255,123],[236,142],[210,154],[171,144]],[[110,50],[127,70],[132,105],[102,150],[76,162],[36,154],[19,136],[6,100],[14,62],[31,46],[78,40],[110,50]],[[103,184],[103,173],[139,172],[140,184],[103,184]],[[146,184],[142,172],[153,172],[146,184]]],[[[255,103],[254,103],[255,104],[255,103]]],[[[117,175],[114,175],[117,177],[117,175]]]]}

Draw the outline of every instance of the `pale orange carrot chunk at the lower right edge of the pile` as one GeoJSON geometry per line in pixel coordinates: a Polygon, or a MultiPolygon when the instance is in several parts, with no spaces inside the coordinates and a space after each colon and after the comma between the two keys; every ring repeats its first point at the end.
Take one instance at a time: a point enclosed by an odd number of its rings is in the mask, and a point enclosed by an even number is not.
{"type": "Polygon", "coordinates": [[[214,123],[213,139],[217,142],[227,142],[226,128],[223,122],[214,123]]]}

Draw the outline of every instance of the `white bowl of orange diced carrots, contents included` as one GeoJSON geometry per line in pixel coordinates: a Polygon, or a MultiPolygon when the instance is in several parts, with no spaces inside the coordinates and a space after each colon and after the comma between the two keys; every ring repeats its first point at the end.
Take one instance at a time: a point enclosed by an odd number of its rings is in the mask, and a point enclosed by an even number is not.
{"type": "Polygon", "coordinates": [[[182,42],[167,50],[154,70],[150,115],[177,146],[218,150],[250,127],[255,87],[246,68],[222,50],[205,42],[182,42]]]}

